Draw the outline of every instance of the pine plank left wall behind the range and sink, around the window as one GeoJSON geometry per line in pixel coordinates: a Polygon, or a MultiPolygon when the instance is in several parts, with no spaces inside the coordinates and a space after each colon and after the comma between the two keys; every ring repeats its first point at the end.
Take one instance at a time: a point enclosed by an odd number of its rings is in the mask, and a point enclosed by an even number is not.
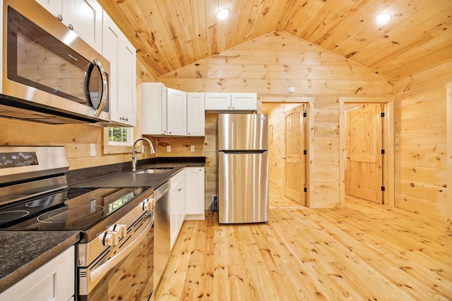
{"type": "MultiPolygon", "coordinates": [[[[137,59],[137,112],[141,112],[141,82],[155,81],[150,71],[137,59]]],[[[133,137],[140,137],[141,114],[133,137]]],[[[104,128],[95,125],[46,125],[0,118],[0,145],[62,145],[66,148],[69,168],[79,169],[131,161],[131,147],[126,153],[116,153],[114,147],[103,144],[104,128]],[[90,156],[90,144],[95,144],[96,156],[90,156]]],[[[138,159],[150,157],[139,154],[138,159]]]]}

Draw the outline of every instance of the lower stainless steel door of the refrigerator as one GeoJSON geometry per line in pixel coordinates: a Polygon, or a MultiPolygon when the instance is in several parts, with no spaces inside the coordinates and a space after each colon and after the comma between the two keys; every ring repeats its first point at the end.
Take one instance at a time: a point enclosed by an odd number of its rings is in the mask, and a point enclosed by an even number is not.
{"type": "Polygon", "coordinates": [[[218,153],[219,223],[268,221],[268,152],[218,153]]]}

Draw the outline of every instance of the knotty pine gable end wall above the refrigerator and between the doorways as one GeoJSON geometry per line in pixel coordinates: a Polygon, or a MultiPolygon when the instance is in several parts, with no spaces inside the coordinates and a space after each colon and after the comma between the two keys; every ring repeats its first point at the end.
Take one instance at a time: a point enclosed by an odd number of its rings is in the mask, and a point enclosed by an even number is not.
{"type": "MultiPolygon", "coordinates": [[[[157,81],[187,92],[257,92],[260,103],[315,97],[310,207],[340,204],[339,97],[354,97],[357,102],[362,97],[393,97],[393,83],[387,78],[285,32],[272,32],[157,81]],[[295,94],[287,93],[290,86],[297,89],[295,94]]],[[[216,171],[216,159],[209,162],[210,171],[216,171]]],[[[207,190],[216,191],[216,184],[206,181],[207,190]]]]}

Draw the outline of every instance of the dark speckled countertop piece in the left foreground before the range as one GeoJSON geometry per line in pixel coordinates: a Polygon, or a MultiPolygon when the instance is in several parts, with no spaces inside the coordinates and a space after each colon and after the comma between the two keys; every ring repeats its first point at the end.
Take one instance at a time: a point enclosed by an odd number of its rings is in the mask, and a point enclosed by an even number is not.
{"type": "Polygon", "coordinates": [[[0,231],[0,293],[79,239],[78,231],[0,231]]]}

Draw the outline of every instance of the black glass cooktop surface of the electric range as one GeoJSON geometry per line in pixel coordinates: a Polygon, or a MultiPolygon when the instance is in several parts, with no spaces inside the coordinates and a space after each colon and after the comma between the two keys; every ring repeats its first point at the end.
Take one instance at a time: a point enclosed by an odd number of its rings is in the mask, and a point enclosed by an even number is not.
{"type": "Polygon", "coordinates": [[[67,188],[0,208],[1,231],[85,231],[148,188],[67,188]]]}

